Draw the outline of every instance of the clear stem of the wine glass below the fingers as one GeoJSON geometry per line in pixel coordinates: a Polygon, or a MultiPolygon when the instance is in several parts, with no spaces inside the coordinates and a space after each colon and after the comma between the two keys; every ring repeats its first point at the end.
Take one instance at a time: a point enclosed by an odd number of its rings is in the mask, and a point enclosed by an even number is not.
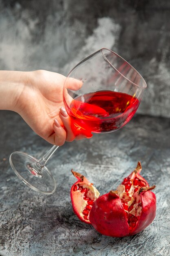
{"type": "Polygon", "coordinates": [[[35,169],[35,171],[37,171],[38,173],[42,173],[46,162],[50,159],[50,157],[53,155],[55,150],[57,150],[57,148],[59,148],[59,146],[52,146],[52,148],[45,155],[43,155],[43,157],[41,157],[37,162],[31,164],[31,167],[35,169]]]}

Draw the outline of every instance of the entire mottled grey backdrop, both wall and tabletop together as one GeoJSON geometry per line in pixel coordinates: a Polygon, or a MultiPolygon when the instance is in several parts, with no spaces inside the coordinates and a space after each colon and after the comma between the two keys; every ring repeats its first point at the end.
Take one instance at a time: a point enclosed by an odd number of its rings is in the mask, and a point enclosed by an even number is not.
{"type": "Polygon", "coordinates": [[[30,191],[10,168],[15,150],[40,157],[49,144],[21,117],[0,111],[0,254],[4,256],[168,256],[170,254],[170,1],[0,0],[0,69],[66,75],[107,47],[130,62],[148,88],[137,114],[117,132],[59,148],[48,163],[57,191],[30,191]],[[132,237],[102,236],[74,215],[70,170],[101,194],[115,189],[140,160],[156,184],[157,216],[132,237]]]}

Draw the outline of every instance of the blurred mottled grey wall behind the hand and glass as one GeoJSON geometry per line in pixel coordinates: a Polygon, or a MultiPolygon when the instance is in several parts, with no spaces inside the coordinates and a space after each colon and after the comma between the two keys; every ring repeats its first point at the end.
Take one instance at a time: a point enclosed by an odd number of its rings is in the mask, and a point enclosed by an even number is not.
{"type": "Polygon", "coordinates": [[[0,70],[68,74],[108,47],[146,79],[138,113],[170,117],[169,0],[0,0],[0,70]]]}

